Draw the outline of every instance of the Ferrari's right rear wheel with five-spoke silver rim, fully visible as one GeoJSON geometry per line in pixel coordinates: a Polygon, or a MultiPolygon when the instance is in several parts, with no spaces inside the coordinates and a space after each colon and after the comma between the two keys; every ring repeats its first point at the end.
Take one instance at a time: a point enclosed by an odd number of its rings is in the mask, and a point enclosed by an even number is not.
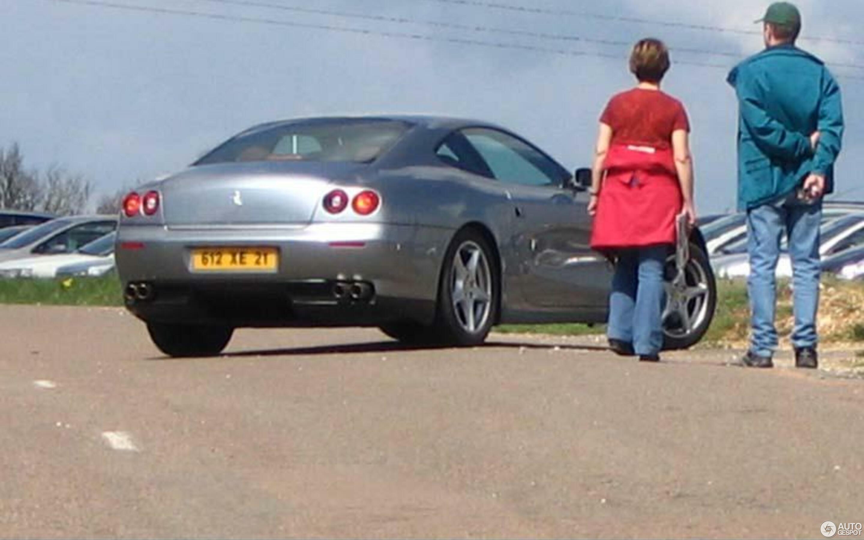
{"type": "Polygon", "coordinates": [[[444,257],[435,324],[441,345],[475,346],[486,340],[499,308],[499,261],[480,232],[458,232],[444,257]]]}

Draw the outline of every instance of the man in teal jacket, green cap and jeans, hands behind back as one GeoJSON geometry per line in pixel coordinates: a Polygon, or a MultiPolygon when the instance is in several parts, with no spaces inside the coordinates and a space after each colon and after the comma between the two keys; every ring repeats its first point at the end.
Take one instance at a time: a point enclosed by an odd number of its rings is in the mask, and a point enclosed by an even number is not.
{"type": "Polygon", "coordinates": [[[741,364],[773,365],[775,272],[785,232],[793,269],[795,363],[816,368],[819,226],[842,144],[840,87],[821,60],[795,46],[801,14],[794,5],[772,3],[759,22],[766,49],[728,78],[740,106],[738,201],[747,213],[750,257],[752,336],[741,364]]]}

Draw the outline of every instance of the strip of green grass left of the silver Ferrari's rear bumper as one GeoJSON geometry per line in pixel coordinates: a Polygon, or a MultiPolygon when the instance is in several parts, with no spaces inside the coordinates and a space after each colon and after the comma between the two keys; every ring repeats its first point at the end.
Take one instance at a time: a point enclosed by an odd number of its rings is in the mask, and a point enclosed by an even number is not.
{"type": "Polygon", "coordinates": [[[122,306],[116,275],[68,279],[0,279],[0,304],[122,306]]]}

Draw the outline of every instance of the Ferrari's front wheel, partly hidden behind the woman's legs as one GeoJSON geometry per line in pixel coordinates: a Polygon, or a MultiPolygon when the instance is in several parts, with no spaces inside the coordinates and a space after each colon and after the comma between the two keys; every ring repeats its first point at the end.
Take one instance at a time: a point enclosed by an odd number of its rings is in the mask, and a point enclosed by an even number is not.
{"type": "Polygon", "coordinates": [[[688,349],[702,340],[717,307],[717,283],[708,256],[696,244],[691,243],[689,250],[683,283],[674,283],[674,253],[666,263],[663,348],[667,351],[688,349]]]}

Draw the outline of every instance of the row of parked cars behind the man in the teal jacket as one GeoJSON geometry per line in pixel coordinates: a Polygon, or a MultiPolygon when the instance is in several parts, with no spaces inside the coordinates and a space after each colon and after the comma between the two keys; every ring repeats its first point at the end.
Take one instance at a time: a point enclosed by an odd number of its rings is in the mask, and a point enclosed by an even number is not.
{"type": "MultiPolygon", "coordinates": [[[[744,213],[714,215],[703,219],[702,234],[717,277],[746,277],[747,226],[744,213]]],[[[864,279],[864,202],[826,202],[819,253],[825,274],[841,279],[864,279]]],[[[778,277],[791,277],[791,259],[785,247],[777,266],[778,277]]]]}

